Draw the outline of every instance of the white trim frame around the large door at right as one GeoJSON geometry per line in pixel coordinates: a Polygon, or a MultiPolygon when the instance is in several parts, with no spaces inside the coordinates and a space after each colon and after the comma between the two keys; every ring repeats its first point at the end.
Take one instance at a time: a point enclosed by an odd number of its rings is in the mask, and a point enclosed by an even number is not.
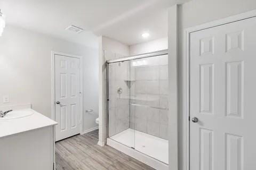
{"type": "Polygon", "coordinates": [[[204,23],[201,25],[197,25],[195,27],[190,27],[184,30],[184,45],[183,45],[183,63],[184,69],[182,70],[183,73],[183,85],[182,85],[182,107],[183,107],[183,155],[185,157],[185,160],[183,161],[183,169],[189,170],[190,169],[190,33],[201,31],[204,29],[209,29],[213,27],[218,27],[220,25],[237,22],[249,18],[256,17],[256,10],[252,10],[249,12],[241,13],[234,16],[229,16],[224,19],[204,23]]]}

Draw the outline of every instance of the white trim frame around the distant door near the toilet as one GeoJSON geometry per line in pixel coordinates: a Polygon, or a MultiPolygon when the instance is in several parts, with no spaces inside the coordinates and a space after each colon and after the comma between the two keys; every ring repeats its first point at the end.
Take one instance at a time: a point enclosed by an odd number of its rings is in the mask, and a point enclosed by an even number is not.
{"type": "MultiPolygon", "coordinates": [[[[55,55],[61,55],[65,57],[79,58],[80,60],[80,89],[81,89],[81,100],[80,100],[80,134],[83,133],[83,57],[71,54],[65,54],[61,52],[51,52],[52,66],[51,66],[51,82],[52,82],[52,120],[55,120],[55,55]]],[[[55,141],[55,129],[54,129],[54,141],[55,141]]]]}

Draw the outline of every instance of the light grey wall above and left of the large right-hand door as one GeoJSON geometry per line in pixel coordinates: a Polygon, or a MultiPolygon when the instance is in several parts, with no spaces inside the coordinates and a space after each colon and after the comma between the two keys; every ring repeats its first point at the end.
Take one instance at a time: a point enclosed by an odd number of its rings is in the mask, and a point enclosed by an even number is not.
{"type": "MultiPolygon", "coordinates": [[[[188,3],[180,5],[178,8],[178,23],[179,23],[179,32],[178,32],[178,131],[179,131],[179,169],[185,169],[184,160],[186,156],[183,154],[183,121],[185,117],[183,114],[183,91],[182,86],[184,78],[184,67],[183,65],[183,31],[188,27],[193,27],[195,25],[203,24],[206,22],[218,20],[221,18],[226,18],[231,15],[243,13],[246,11],[254,10],[256,8],[255,0],[192,0],[188,3]]],[[[172,21],[170,21],[172,22],[172,21]]],[[[175,32],[172,32],[175,34],[175,32]]],[[[172,33],[169,36],[174,36],[172,33]]]]}

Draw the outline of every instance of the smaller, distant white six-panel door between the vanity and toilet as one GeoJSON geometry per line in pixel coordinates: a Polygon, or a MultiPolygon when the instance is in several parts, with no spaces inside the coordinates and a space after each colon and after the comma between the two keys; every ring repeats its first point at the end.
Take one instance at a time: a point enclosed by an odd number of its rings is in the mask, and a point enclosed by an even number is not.
{"type": "Polygon", "coordinates": [[[56,141],[80,133],[80,59],[55,55],[56,141]]]}

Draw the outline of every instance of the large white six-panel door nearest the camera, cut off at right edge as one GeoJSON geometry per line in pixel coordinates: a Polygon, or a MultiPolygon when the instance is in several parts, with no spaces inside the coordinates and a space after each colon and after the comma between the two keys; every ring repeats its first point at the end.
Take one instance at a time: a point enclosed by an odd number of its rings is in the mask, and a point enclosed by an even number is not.
{"type": "Polygon", "coordinates": [[[255,32],[251,18],[190,34],[190,170],[256,169],[255,32]]]}

